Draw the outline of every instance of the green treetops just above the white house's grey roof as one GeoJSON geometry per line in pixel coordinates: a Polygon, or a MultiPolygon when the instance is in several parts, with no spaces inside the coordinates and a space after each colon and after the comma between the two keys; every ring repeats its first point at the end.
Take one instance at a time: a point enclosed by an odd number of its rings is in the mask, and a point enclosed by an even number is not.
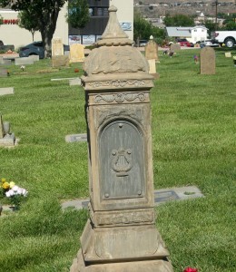
{"type": "Polygon", "coordinates": [[[166,26],[194,26],[194,19],[188,15],[166,15],[164,20],[166,26]]]}

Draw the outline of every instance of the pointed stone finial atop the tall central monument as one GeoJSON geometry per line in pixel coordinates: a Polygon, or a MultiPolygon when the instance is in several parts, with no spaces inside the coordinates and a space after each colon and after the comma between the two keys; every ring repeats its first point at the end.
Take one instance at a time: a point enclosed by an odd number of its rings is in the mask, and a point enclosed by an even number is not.
{"type": "Polygon", "coordinates": [[[125,34],[121,25],[119,24],[116,12],[117,8],[111,5],[108,9],[109,20],[102,35],[102,40],[96,43],[98,46],[102,45],[132,45],[133,41],[125,34]]]}

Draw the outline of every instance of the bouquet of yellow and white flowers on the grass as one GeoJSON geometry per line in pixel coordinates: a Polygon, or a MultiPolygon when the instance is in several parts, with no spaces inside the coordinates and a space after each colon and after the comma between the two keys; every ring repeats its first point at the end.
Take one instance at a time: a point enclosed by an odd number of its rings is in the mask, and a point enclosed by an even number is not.
{"type": "Polygon", "coordinates": [[[8,182],[5,179],[1,181],[3,196],[10,200],[11,204],[14,205],[14,209],[20,209],[21,202],[27,197],[28,191],[25,188],[15,185],[14,181],[8,182]]]}

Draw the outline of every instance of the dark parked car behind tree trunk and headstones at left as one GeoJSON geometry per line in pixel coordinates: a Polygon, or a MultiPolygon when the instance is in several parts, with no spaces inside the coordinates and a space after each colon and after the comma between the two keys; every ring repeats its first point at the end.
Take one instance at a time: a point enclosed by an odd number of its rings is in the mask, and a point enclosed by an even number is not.
{"type": "MultiPolygon", "coordinates": [[[[70,46],[64,44],[64,51],[70,51],[70,46]]],[[[43,42],[34,42],[20,48],[20,57],[28,57],[29,55],[38,55],[40,59],[44,59],[43,42]]]]}

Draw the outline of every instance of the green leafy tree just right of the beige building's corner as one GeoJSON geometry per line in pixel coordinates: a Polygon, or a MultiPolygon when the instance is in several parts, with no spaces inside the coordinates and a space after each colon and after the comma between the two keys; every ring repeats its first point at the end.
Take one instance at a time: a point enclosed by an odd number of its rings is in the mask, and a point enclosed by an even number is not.
{"type": "Polygon", "coordinates": [[[166,36],[163,29],[153,26],[143,18],[140,12],[135,10],[133,18],[134,41],[138,44],[141,39],[149,40],[151,35],[158,44],[162,44],[162,40],[164,40],[166,36]]]}

